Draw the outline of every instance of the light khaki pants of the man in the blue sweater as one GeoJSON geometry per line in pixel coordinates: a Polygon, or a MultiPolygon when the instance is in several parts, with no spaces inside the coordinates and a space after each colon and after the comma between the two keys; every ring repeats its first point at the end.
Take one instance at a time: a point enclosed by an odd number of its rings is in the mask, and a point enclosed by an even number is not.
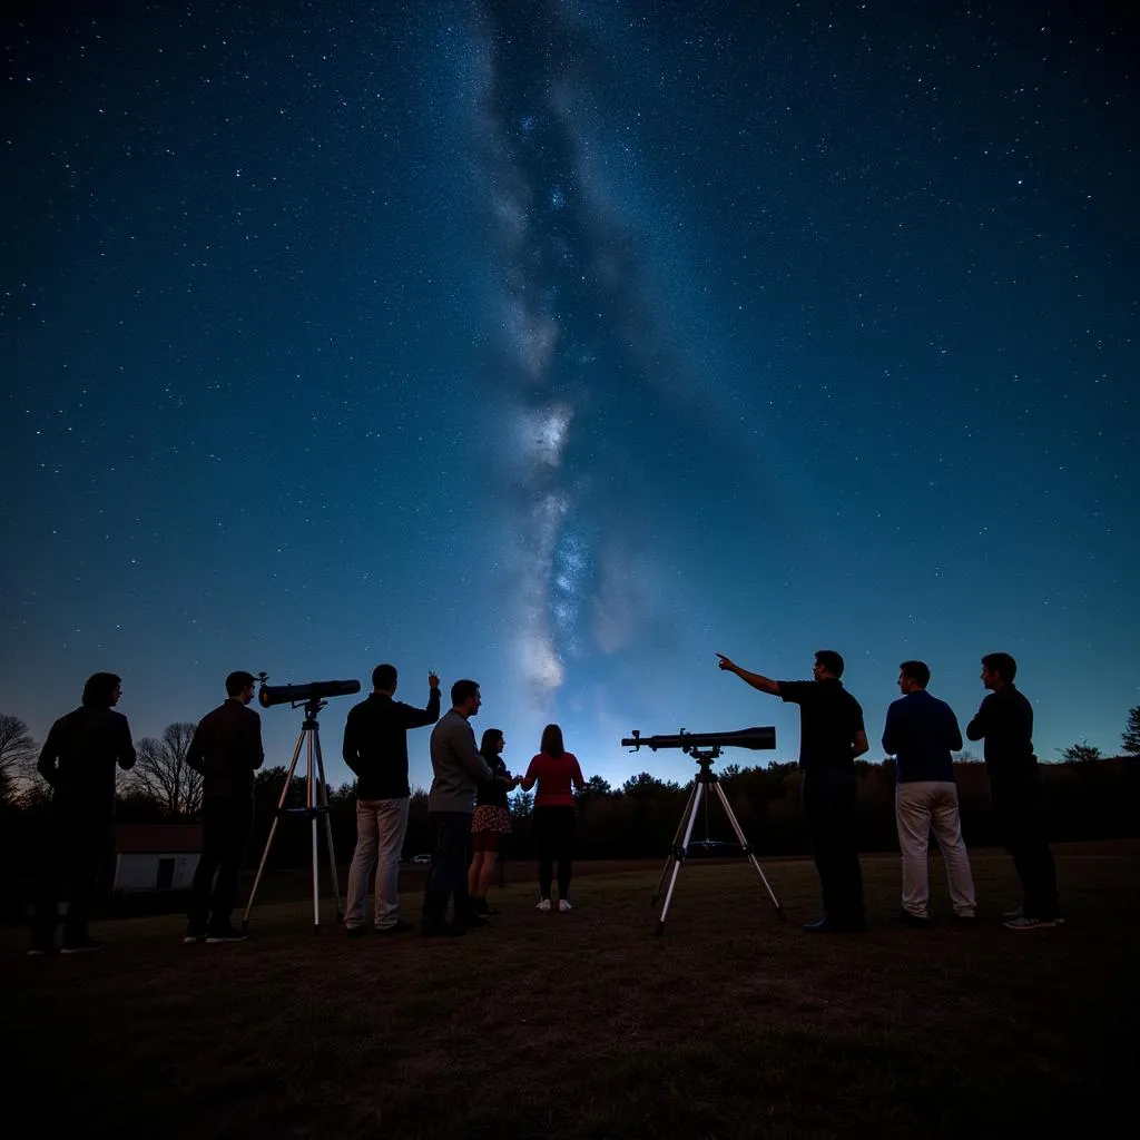
{"type": "Polygon", "coordinates": [[[974,877],[958,817],[958,788],[939,780],[901,783],[895,788],[895,819],[898,823],[898,846],[903,852],[903,910],[917,918],[930,917],[927,845],[934,828],[946,864],[954,913],[972,915],[974,877]]]}

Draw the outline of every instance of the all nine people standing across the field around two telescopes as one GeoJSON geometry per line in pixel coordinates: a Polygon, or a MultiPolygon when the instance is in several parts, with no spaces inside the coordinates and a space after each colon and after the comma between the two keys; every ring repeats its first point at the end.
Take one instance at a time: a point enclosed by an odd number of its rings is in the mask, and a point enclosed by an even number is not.
{"type": "MultiPolygon", "coordinates": [[[[855,759],[868,751],[863,709],[841,682],[844,659],[833,650],[815,654],[812,681],[773,681],[741,668],[724,654],[719,667],[754,689],[800,709],[803,805],[823,895],[823,915],[812,933],[848,933],[866,927],[858,862],[855,759]]],[[[1008,653],[982,658],[988,690],[967,725],[969,740],[983,740],[994,813],[1021,881],[1023,899],[1007,912],[1012,930],[1037,930],[1062,922],[1057,872],[1045,837],[1041,773],[1033,752],[1033,707],[1015,684],[1017,662],[1008,653]]],[[[537,785],[534,828],[538,842],[539,911],[570,910],[575,837],[575,790],[585,787],[581,767],[567,751],[556,724],[543,732],[538,754],[523,775],[503,760],[505,739],[488,728],[475,747],[471,718],[482,697],[474,681],[451,686],[451,708],[440,716],[439,677],[427,675],[427,705],[414,708],[394,699],[394,666],[373,670],[373,691],[349,710],[342,755],[357,777],[357,844],[349,871],[345,929],[368,933],[366,895],[375,871],[372,927],[400,934],[413,923],[399,912],[399,869],[407,832],[410,785],[407,732],[434,725],[432,783],[427,812],[433,850],[424,886],[420,930],[427,937],[464,934],[484,926],[495,909],[487,895],[500,845],[511,831],[507,795],[537,785]],[[472,850],[469,858],[469,849],[472,850]],[[448,913],[450,912],[450,918],[448,913]]],[[[930,923],[927,850],[933,830],[946,864],[950,898],[959,921],[975,920],[969,855],[962,841],[952,752],[962,747],[953,710],[927,692],[930,669],[922,661],[899,666],[902,697],[887,711],[882,746],[895,757],[898,842],[903,886],[899,920],[930,923]]],[[[238,874],[253,825],[254,772],[264,760],[261,718],[249,706],[255,678],[238,670],[226,678],[226,701],[198,723],[187,764],[203,777],[203,850],[194,874],[187,943],[239,942],[231,921],[238,874]]],[[[60,880],[67,913],[63,953],[101,948],[88,936],[88,912],[99,861],[111,833],[115,771],[135,765],[127,717],[115,711],[122,678],[91,676],[80,707],[51,726],[38,771],[51,787],[51,824],[41,852],[32,926],[33,955],[52,953],[60,880]]]]}

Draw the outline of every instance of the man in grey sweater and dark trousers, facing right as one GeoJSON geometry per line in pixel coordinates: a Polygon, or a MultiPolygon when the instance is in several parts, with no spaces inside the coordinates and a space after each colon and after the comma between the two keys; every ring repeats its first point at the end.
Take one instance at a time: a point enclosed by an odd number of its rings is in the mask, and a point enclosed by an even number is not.
{"type": "Polygon", "coordinates": [[[421,931],[429,936],[463,934],[467,926],[484,926],[467,895],[467,839],[475,812],[479,781],[494,779],[479,749],[467,718],[479,711],[482,697],[474,681],[451,685],[451,708],[431,734],[431,791],[427,819],[434,836],[434,849],[427,882],[421,931]],[[454,922],[447,921],[447,904],[454,897],[454,922]]]}

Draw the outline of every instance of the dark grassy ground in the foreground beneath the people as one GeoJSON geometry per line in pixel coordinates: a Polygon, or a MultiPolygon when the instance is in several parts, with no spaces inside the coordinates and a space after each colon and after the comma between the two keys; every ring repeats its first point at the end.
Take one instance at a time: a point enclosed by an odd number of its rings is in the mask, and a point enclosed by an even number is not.
{"type": "Polygon", "coordinates": [[[883,856],[858,936],[800,931],[807,862],[766,864],[785,923],[744,864],[686,864],[661,939],[656,866],[581,876],[570,914],[507,887],[462,939],[349,942],[332,907],[315,937],[300,902],[259,904],[239,945],[146,918],[97,925],[100,954],[28,960],[9,930],[6,1104],[71,1135],[1093,1133],[1134,1099],[1140,856],[1058,863],[1068,925],[1034,934],[1001,927],[1016,881],[987,853],[976,929],[888,923],[883,856]]]}

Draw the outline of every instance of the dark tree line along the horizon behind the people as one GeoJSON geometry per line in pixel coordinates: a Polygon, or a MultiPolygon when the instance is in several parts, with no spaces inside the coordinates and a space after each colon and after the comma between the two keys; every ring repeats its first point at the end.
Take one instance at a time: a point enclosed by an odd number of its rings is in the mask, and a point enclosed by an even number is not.
{"type": "MultiPolygon", "coordinates": [[[[135,767],[120,775],[116,819],[124,823],[194,822],[202,807],[202,777],[186,763],[194,724],[168,725],[162,736],[144,738],[137,744],[135,767]]],[[[1125,755],[1105,758],[1096,748],[1074,744],[1061,759],[1043,766],[1044,796],[1051,821],[1051,838],[1089,840],[1132,837],[1140,833],[1140,706],[1129,711],[1122,734],[1125,755]]],[[[48,811],[50,793],[35,774],[39,748],[17,717],[0,715],[0,813],[5,863],[27,865],[36,849],[35,834],[48,811]]],[[[890,760],[856,762],[860,774],[857,828],[862,850],[890,850],[897,845],[894,813],[895,776],[890,760]]],[[[719,775],[744,834],[762,855],[797,855],[807,852],[799,792],[801,773],[795,763],[771,763],[714,768],[719,775]]],[[[694,766],[695,772],[695,766],[694,766]]],[[[1000,836],[990,806],[984,766],[968,756],[955,764],[962,830],[968,844],[990,846],[1000,836]]],[[[284,767],[255,774],[256,817],[251,849],[264,847],[286,777],[284,767]]],[[[576,852],[581,858],[663,858],[676,837],[689,799],[691,783],[661,780],[649,772],[611,787],[593,776],[577,796],[576,852]]],[[[304,780],[294,776],[286,807],[304,803],[304,780]]],[[[706,800],[694,822],[694,853],[723,853],[722,844],[734,842],[719,804],[706,800]]],[[[531,832],[532,793],[511,798],[514,830],[508,858],[535,856],[531,832]]],[[[356,785],[329,789],[329,819],[340,862],[356,842],[356,785]]],[[[431,850],[427,795],[412,796],[405,854],[431,850]]],[[[284,821],[274,840],[271,863],[301,866],[310,857],[310,831],[284,821]]]]}

